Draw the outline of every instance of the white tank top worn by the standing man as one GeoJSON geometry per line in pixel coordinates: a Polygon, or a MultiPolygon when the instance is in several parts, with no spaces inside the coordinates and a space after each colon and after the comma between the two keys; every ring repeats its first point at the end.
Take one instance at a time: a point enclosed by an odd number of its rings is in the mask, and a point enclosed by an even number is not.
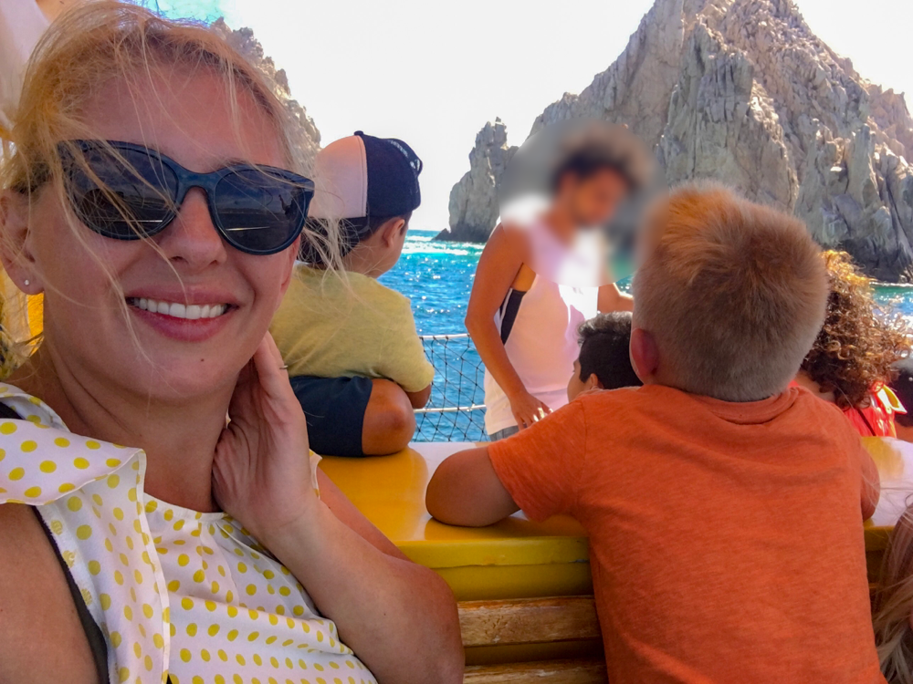
{"type": "MultiPolygon", "coordinates": [[[[561,244],[547,225],[534,223],[529,237],[529,265],[536,276],[520,300],[504,348],[527,391],[556,410],[568,400],[568,380],[580,350],[577,327],[597,313],[604,273],[603,251],[598,248],[597,233],[584,233],[568,247],[561,244]]],[[[495,316],[498,330],[504,309],[502,306],[495,316]]],[[[517,424],[507,395],[488,368],[485,405],[488,434],[517,424]]]]}

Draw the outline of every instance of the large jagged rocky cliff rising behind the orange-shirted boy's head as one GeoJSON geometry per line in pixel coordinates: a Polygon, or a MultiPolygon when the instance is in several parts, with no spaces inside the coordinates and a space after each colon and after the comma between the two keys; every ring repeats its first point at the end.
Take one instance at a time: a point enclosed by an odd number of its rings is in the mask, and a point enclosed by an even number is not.
{"type": "MultiPolygon", "coordinates": [[[[656,0],[614,64],[551,104],[532,131],[575,117],[626,123],[655,146],[669,183],[726,181],[794,212],[820,244],[846,249],[871,275],[913,275],[904,98],[860,77],[792,0],[656,0]]],[[[467,175],[487,152],[477,138],[467,175]]],[[[494,167],[491,175],[497,186],[494,167]]],[[[469,190],[457,193],[464,217],[478,206],[469,190]]],[[[453,210],[452,194],[451,239],[460,239],[468,233],[453,210]]]]}

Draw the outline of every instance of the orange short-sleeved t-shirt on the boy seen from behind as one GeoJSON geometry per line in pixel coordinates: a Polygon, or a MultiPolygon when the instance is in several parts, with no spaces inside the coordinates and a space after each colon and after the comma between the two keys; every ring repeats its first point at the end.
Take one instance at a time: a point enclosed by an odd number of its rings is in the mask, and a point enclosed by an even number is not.
{"type": "Polygon", "coordinates": [[[647,386],[581,397],[488,445],[533,520],[590,536],[612,684],[873,684],[872,468],[804,389],[729,403],[647,386]]]}

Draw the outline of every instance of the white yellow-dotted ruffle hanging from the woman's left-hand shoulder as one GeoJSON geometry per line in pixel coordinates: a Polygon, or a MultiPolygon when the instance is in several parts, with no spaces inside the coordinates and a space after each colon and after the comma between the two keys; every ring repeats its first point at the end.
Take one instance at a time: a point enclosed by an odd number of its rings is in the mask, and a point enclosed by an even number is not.
{"type": "Polygon", "coordinates": [[[169,606],[142,514],[145,452],[73,434],[12,385],[0,383],[0,401],[22,417],[0,420],[0,503],[35,506],[53,534],[105,634],[111,681],[163,682],[169,606]]]}

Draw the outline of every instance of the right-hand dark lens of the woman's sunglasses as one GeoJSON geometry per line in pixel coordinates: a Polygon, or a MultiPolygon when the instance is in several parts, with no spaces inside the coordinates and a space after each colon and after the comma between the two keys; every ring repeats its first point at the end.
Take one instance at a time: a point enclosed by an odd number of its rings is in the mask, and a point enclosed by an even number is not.
{"type": "Polygon", "coordinates": [[[213,203],[226,240],[248,254],[280,252],[301,233],[313,195],[310,182],[242,169],[215,186],[213,203]]]}

